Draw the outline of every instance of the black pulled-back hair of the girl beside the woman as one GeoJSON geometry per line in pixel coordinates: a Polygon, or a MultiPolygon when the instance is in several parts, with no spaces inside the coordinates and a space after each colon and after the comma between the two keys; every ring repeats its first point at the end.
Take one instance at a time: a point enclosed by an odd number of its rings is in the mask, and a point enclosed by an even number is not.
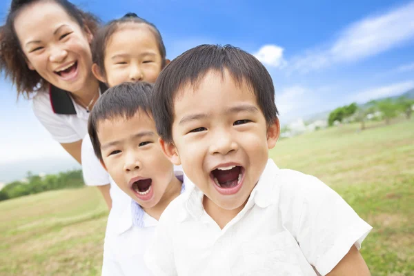
{"type": "Polygon", "coordinates": [[[112,37],[112,34],[117,32],[117,30],[119,30],[119,28],[121,28],[121,26],[126,23],[137,23],[148,26],[150,32],[154,34],[154,37],[157,40],[159,55],[161,55],[162,61],[161,68],[164,68],[166,65],[167,55],[166,46],[164,46],[164,41],[162,40],[161,33],[159,32],[158,28],[154,24],[137,16],[137,14],[128,12],[124,15],[124,17],[110,21],[105,26],[100,28],[97,31],[97,34],[95,34],[90,50],[92,51],[92,61],[93,63],[97,64],[99,70],[101,71],[101,74],[106,75],[105,65],[103,62],[105,59],[106,44],[108,43],[110,37],[112,37]]]}

